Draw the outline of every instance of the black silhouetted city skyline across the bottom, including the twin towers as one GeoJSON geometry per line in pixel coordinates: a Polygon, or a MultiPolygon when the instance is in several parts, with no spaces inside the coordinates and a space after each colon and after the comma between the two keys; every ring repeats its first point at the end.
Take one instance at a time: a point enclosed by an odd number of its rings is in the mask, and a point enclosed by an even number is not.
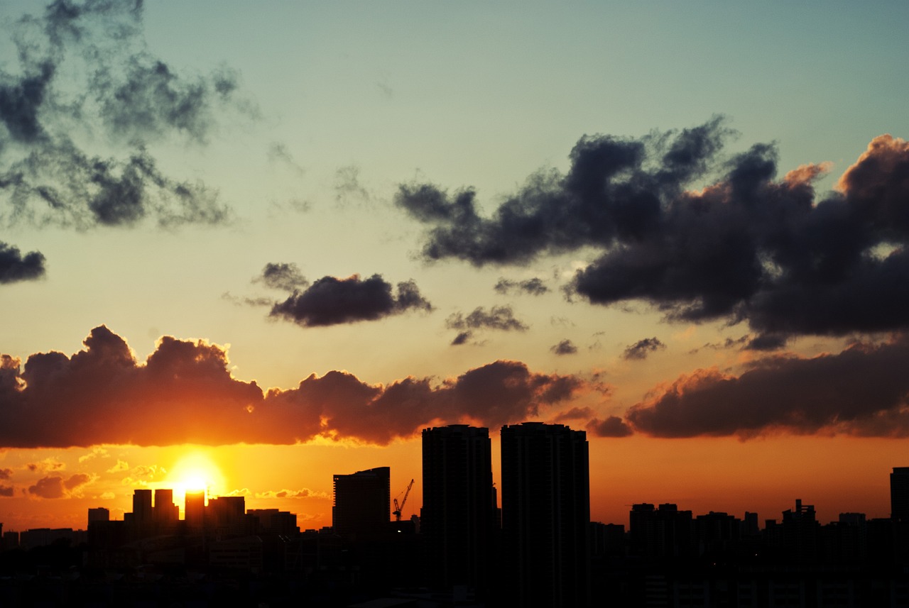
{"type": "Polygon", "coordinates": [[[124,588],[135,591],[165,575],[181,585],[201,574],[223,584],[267,577],[307,605],[385,596],[394,601],[382,605],[431,607],[909,606],[909,467],[890,475],[889,518],[844,513],[821,525],[796,500],[762,527],[755,513],[641,503],[626,530],[590,522],[584,432],[504,426],[501,459],[496,487],[487,428],[426,428],[423,506],[410,520],[401,511],[414,482],[399,504],[389,467],[378,466],[334,476],[333,525],[321,530],[301,533],[285,511],[247,510],[243,496],[206,503],[204,492],[186,493],[180,519],[171,490],[136,489],[122,521],[89,509],[87,533],[0,525],[2,555],[86,543],[83,581],[128,574],[124,588]]]}

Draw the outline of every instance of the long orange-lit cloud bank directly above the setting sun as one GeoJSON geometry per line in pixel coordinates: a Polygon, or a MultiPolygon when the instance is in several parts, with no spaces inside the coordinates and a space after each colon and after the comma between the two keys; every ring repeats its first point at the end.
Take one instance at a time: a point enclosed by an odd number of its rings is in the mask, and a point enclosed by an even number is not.
{"type": "MultiPolygon", "coordinates": [[[[9,360],[0,375],[0,446],[9,447],[294,444],[315,436],[387,444],[434,424],[520,422],[587,389],[579,378],[495,361],[440,382],[409,377],[370,385],[330,371],[264,393],[231,376],[217,345],[165,336],[140,364],[104,326],[72,357],[37,353],[21,372],[9,360]]],[[[49,471],[54,463],[35,466],[49,471]]],[[[81,485],[77,476],[46,479],[30,491],[81,485]]]]}

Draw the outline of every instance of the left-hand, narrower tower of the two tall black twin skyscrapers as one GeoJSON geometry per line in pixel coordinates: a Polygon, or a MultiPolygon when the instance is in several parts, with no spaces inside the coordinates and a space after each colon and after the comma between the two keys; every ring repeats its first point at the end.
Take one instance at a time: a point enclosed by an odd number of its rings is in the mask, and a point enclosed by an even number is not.
{"type": "Polygon", "coordinates": [[[489,429],[451,425],[423,431],[420,532],[430,584],[484,593],[495,534],[489,429]]]}

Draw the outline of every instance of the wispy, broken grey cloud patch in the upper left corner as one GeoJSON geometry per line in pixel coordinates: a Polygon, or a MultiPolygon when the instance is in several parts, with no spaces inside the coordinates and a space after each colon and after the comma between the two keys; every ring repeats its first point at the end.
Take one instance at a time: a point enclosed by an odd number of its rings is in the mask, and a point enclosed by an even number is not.
{"type": "Polygon", "coordinates": [[[0,68],[4,221],[87,229],[229,220],[214,191],[166,175],[147,144],[203,144],[225,111],[252,112],[237,74],[187,77],[155,57],[135,0],[55,2],[7,34],[17,54],[10,71],[0,68]],[[99,152],[85,142],[110,145],[99,152]]]}

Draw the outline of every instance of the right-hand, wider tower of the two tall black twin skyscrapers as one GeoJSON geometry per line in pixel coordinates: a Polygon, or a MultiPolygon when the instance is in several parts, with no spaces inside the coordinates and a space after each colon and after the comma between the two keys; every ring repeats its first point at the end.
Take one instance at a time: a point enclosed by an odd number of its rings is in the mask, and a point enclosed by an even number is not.
{"type": "Polygon", "coordinates": [[[502,527],[515,606],[589,603],[590,475],[584,431],[502,427],[502,527]]]}

